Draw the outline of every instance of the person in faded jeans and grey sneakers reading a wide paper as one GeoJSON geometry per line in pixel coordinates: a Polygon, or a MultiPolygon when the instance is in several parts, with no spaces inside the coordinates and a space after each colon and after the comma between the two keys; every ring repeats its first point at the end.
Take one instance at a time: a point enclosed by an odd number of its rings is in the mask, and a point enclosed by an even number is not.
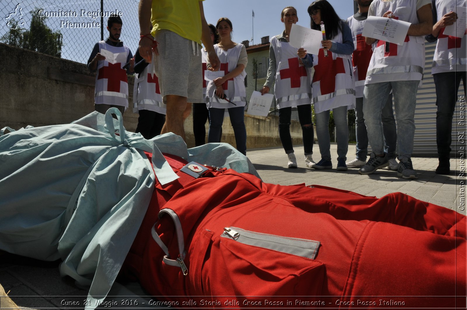
{"type": "Polygon", "coordinates": [[[374,0],[368,16],[395,18],[411,25],[403,45],[386,44],[370,37],[365,39],[368,45],[374,44],[363,90],[363,115],[373,152],[359,172],[371,174],[388,165],[381,110],[392,90],[397,122],[397,176],[417,179],[410,157],[417,88],[425,66],[425,35],[432,32],[433,26],[431,0],[374,0]]]}

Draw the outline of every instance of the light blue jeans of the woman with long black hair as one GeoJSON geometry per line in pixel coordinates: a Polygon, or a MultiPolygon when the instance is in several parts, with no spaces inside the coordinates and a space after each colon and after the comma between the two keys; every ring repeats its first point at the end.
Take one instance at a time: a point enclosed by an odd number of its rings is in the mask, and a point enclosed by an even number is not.
{"type": "MultiPolygon", "coordinates": [[[[347,160],[349,142],[349,128],[347,126],[347,106],[333,109],[334,123],[336,124],[337,159],[347,160]]],[[[321,158],[331,160],[331,139],[329,137],[329,110],[316,113],[316,134],[321,158]]]]}

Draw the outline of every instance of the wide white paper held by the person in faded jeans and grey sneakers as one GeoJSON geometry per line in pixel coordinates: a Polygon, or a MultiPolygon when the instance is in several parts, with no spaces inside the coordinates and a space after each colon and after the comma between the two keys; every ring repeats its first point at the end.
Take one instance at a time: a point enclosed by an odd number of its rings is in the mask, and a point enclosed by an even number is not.
{"type": "Polygon", "coordinates": [[[410,25],[394,18],[368,16],[361,35],[402,45],[410,25]]]}

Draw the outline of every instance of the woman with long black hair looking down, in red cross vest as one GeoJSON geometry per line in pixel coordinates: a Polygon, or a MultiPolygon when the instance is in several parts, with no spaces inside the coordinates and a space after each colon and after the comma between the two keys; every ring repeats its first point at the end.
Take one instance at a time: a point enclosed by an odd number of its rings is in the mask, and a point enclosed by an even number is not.
{"type": "Polygon", "coordinates": [[[321,41],[318,55],[311,56],[304,49],[298,49],[305,67],[314,67],[312,80],[313,103],[316,113],[316,134],[318,135],[321,160],[312,165],[314,169],[331,169],[329,115],[333,110],[336,124],[337,170],[347,170],[348,127],[347,110],[355,106],[354,78],[351,55],[354,51],[352,31],[326,0],[317,0],[308,7],[312,29],[321,32],[325,27],[326,40],[321,41]],[[327,56],[325,55],[327,53],[327,56]]]}

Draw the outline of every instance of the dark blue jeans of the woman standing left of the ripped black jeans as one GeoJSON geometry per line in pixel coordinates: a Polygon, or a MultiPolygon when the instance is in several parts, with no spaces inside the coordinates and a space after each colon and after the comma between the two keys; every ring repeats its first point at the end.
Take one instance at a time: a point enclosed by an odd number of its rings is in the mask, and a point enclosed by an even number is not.
{"type": "MultiPolygon", "coordinates": [[[[209,132],[207,134],[209,143],[220,141],[224,112],[225,109],[209,108],[209,132]]],[[[247,155],[247,129],[243,121],[244,112],[244,106],[229,108],[230,122],[232,123],[233,134],[235,134],[237,150],[241,154],[247,155]]]]}

